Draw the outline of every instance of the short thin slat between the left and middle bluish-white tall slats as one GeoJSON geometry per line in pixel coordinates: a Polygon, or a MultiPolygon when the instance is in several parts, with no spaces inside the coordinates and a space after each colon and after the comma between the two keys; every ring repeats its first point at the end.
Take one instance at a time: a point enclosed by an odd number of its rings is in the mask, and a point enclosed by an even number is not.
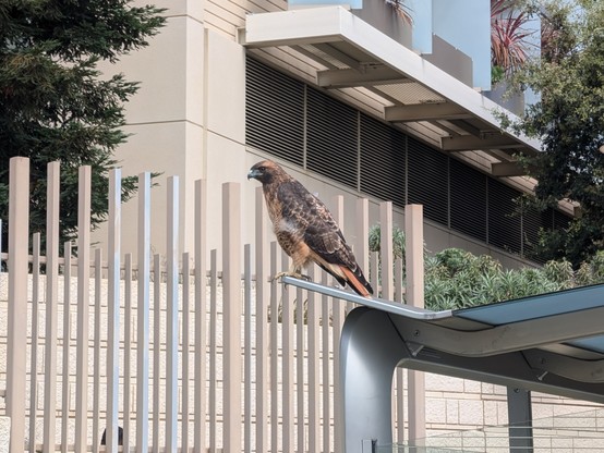
{"type": "Polygon", "coordinates": [[[123,451],[130,452],[132,407],[132,254],[124,255],[123,451]]]}

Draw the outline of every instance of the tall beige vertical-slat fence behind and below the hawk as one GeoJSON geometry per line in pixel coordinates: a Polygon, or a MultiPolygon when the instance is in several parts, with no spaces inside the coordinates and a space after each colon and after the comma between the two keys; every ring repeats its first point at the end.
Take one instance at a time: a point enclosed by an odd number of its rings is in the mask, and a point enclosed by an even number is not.
{"type": "MultiPolygon", "coordinates": [[[[7,364],[0,368],[0,389],[7,389],[11,452],[340,452],[338,345],[353,307],[269,281],[289,267],[289,258],[268,240],[261,188],[254,244],[240,243],[241,188],[227,183],[222,247],[208,250],[208,194],[205,181],[196,182],[194,248],[178,255],[179,181],[168,179],[170,253],[152,256],[150,177],[142,173],[138,221],[131,225],[137,230],[137,252],[122,255],[121,174],[116,169],[104,257],[90,248],[90,177],[83,167],[83,234],[76,244],[67,243],[60,257],[60,167],[48,166],[44,254],[39,233],[29,237],[27,231],[28,160],[11,160],[10,240],[1,255],[8,271],[0,272],[0,313],[5,315],[0,332],[7,332],[0,339],[7,358],[0,360],[7,364]],[[104,432],[107,445],[100,445],[104,432]]],[[[334,206],[342,224],[343,198],[334,206]]],[[[362,266],[371,268],[374,287],[384,282],[383,294],[402,301],[402,265],[391,262],[391,209],[382,204],[376,219],[386,225],[379,265],[367,250],[369,203],[359,200],[354,249],[362,266]]],[[[317,269],[310,276],[333,284],[317,269]]],[[[402,383],[399,371],[394,411],[400,420],[402,383]]],[[[403,428],[396,431],[399,437],[403,428]]]]}

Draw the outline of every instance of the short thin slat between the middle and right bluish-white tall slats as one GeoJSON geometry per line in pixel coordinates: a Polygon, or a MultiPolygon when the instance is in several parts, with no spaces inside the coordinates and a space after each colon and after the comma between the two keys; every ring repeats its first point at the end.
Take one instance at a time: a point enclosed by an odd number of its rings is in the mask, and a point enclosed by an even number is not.
{"type": "Polygon", "coordinates": [[[153,260],[153,451],[159,453],[159,415],[161,412],[161,257],[153,260]]]}

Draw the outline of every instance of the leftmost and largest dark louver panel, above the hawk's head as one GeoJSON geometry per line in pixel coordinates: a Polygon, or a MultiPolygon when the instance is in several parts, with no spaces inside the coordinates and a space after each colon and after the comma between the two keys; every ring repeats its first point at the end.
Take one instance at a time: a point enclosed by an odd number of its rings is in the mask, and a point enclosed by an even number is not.
{"type": "Polygon", "coordinates": [[[247,58],[245,142],[303,164],[304,84],[247,58]]]}

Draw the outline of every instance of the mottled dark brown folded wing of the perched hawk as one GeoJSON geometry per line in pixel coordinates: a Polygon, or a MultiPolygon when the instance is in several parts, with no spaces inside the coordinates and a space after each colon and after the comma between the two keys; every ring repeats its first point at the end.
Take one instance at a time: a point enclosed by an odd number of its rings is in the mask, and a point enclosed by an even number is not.
{"type": "Polygon", "coordinates": [[[281,184],[282,215],[299,229],[313,259],[341,285],[349,283],[361,295],[373,293],[327,207],[298,181],[281,184]]]}

